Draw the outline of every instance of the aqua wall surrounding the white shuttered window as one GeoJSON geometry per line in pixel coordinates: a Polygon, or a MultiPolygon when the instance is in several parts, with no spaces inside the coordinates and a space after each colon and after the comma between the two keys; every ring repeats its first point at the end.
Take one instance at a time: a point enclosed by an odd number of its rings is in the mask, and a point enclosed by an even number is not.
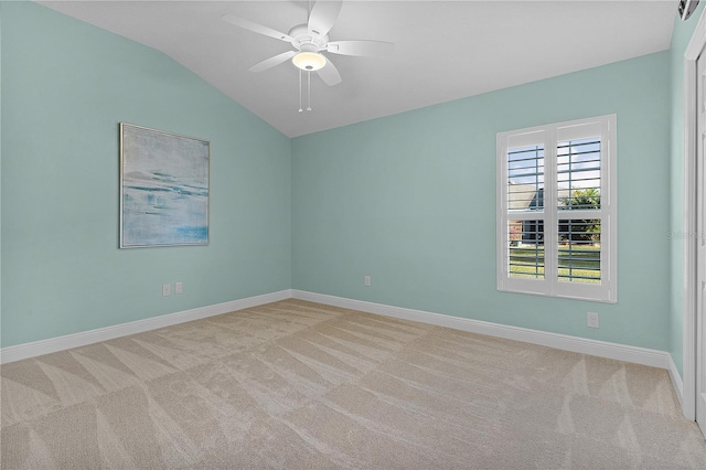
{"type": "Polygon", "coordinates": [[[292,139],[293,288],[668,350],[670,116],[662,52],[292,139]],[[612,113],[618,303],[498,292],[496,133],[612,113]]]}

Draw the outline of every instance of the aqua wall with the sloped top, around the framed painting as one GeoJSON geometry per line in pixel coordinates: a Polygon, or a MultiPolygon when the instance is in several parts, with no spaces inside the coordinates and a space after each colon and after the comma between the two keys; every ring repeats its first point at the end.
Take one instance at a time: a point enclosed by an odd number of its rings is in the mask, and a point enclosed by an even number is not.
{"type": "Polygon", "coordinates": [[[3,2],[1,32],[3,346],[290,288],[286,136],[44,7],[3,2]],[[119,121],[211,141],[210,246],[118,249],[119,121]]]}

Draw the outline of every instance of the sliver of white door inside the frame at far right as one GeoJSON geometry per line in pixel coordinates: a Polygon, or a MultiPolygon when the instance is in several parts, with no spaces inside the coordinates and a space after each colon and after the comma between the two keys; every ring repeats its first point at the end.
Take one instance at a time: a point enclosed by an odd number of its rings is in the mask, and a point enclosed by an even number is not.
{"type": "Polygon", "coordinates": [[[696,61],[696,233],[686,243],[696,244],[696,421],[706,436],[706,49],[696,61]]]}

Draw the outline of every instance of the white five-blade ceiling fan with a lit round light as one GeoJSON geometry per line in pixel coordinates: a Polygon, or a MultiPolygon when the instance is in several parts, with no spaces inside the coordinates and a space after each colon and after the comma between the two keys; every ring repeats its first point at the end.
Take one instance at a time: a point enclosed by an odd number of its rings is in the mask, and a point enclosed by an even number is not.
{"type": "Polygon", "coordinates": [[[394,49],[393,43],[384,41],[329,41],[329,31],[339,18],[342,3],[342,0],[317,1],[311,8],[307,23],[293,26],[287,34],[235,14],[224,14],[222,20],[292,45],[293,50],[253,65],[248,68],[250,72],[267,71],[291,58],[300,71],[317,72],[327,85],[333,86],[341,83],[341,74],[322,52],[384,57],[394,49]]]}

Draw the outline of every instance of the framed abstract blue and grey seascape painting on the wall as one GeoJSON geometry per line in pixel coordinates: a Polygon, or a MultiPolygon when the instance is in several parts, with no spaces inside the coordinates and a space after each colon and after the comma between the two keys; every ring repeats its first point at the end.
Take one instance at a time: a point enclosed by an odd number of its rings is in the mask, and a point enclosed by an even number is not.
{"type": "Polygon", "coordinates": [[[208,244],[210,146],[120,122],[120,248],[208,244]]]}

